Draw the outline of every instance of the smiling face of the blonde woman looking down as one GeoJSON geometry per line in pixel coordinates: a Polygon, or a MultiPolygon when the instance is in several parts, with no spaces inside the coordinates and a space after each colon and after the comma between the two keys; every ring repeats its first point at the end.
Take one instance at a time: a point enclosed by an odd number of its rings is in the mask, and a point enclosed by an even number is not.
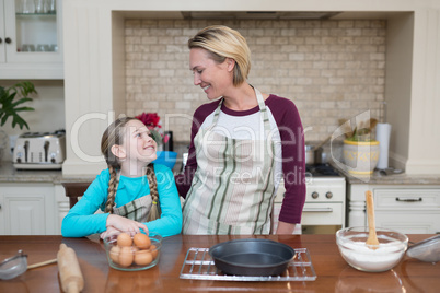
{"type": "Polygon", "coordinates": [[[224,62],[217,63],[209,58],[207,50],[193,48],[189,51],[189,69],[194,74],[194,85],[199,85],[209,99],[224,96],[233,86],[234,60],[227,58],[224,62]]]}

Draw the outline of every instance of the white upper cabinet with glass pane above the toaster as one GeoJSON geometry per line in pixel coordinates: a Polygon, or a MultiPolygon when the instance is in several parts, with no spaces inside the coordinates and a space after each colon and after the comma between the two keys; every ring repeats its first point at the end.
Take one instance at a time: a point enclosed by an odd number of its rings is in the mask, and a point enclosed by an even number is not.
{"type": "Polygon", "coordinates": [[[0,0],[0,79],[63,79],[62,0],[0,0]]]}

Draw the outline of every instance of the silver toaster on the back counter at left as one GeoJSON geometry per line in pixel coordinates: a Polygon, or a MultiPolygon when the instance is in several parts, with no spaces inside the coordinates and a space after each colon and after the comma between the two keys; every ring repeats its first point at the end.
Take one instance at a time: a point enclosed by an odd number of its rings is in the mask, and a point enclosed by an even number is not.
{"type": "Polygon", "coordinates": [[[26,132],[15,142],[12,163],[18,169],[60,169],[66,159],[66,133],[26,132]]]}

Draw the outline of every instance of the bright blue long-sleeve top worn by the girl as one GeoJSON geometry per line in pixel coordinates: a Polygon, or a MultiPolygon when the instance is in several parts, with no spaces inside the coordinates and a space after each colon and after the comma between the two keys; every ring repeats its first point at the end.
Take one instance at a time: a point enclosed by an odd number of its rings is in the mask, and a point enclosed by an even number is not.
{"type": "MultiPolygon", "coordinates": [[[[161,164],[154,164],[158,181],[161,218],[144,223],[152,233],[163,237],[180,234],[182,231],[182,207],[177,188],[171,169],[161,164]]],[[[107,201],[109,172],[104,169],[92,181],[83,197],[72,207],[62,220],[61,234],[65,237],[84,237],[106,231],[109,213],[95,213],[105,210],[107,201]]],[[[147,176],[120,176],[116,191],[116,207],[127,204],[135,199],[150,194],[147,176]]]]}

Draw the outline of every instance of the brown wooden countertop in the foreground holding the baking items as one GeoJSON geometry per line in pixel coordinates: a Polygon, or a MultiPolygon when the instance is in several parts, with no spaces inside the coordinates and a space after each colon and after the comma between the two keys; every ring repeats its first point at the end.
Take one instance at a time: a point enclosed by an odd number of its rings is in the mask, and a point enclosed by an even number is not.
{"type": "MultiPolygon", "coordinates": [[[[408,235],[418,242],[432,235],[408,235]]],[[[428,263],[407,256],[393,269],[381,273],[361,272],[341,258],[335,235],[255,236],[270,238],[293,248],[308,248],[316,272],[314,281],[236,282],[180,279],[183,261],[190,247],[210,247],[232,238],[252,236],[172,236],[163,242],[157,267],[125,272],[108,267],[103,243],[96,237],[0,236],[0,259],[18,249],[28,256],[28,265],[56,258],[59,245],[73,248],[85,279],[83,292],[437,292],[440,263],[428,263]]],[[[0,281],[0,292],[60,292],[58,267],[27,270],[12,280],[0,281]]]]}

